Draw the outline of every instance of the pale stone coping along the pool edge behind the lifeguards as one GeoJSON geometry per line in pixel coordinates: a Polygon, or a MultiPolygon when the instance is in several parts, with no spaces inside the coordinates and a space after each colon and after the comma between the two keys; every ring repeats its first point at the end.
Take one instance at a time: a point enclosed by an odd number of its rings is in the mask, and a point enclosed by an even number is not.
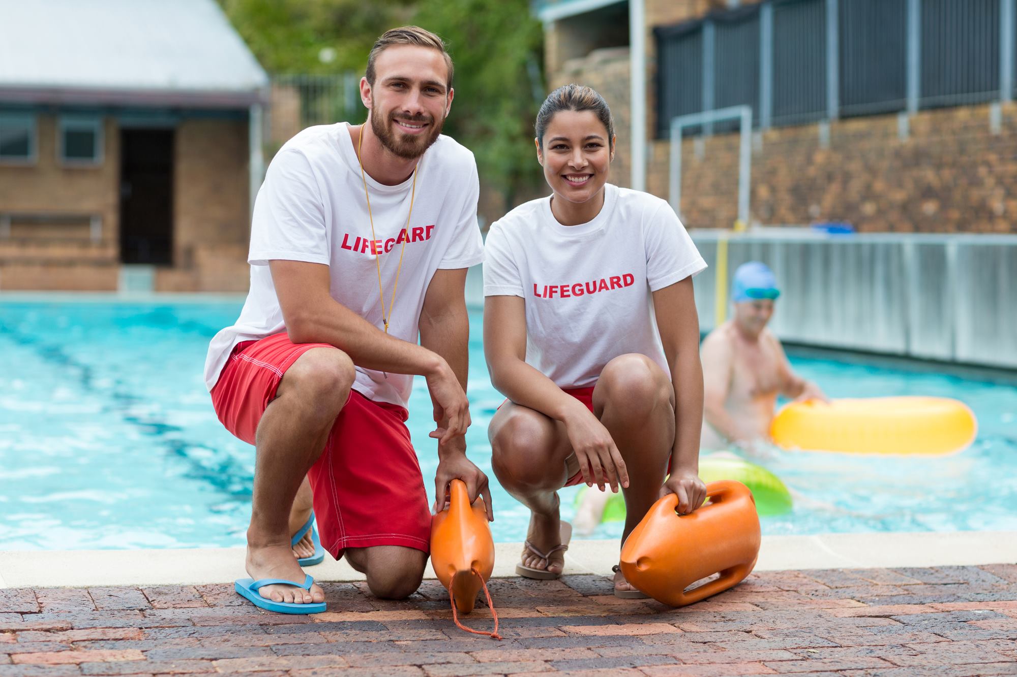
{"type": "MultiPolygon", "coordinates": [[[[493,577],[515,576],[521,543],[496,543],[493,577]]],[[[610,575],[616,540],[574,540],[565,574],[610,575]]],[[[345,561],[309,567],[318,580],[362,580],[345,561]]],[[[244,574],[243,548],[0,551],[0,589],[179,586],[244,574]]],[[[764,536],[760,571],[975,566],[1017,563],[1017,532],[923,532],[764,536]]],[[[428,566],[425,578],[433,578],[428,566]]]]}

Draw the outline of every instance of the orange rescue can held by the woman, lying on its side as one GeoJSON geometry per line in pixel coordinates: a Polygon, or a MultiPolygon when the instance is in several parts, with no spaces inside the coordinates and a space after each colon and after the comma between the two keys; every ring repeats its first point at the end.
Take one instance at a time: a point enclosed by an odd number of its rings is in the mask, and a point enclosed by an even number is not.
{"type": "Polygon", "coordinates": [[[692,514],[664,496],[621,548],[625,579],[653,599],[683,607],[744,580],[760,552],[760,519],[749,487],[733,480],[707,485],[707,501],[692,514]],[[720,577],[690,591],[703,578],[720,577]]]}

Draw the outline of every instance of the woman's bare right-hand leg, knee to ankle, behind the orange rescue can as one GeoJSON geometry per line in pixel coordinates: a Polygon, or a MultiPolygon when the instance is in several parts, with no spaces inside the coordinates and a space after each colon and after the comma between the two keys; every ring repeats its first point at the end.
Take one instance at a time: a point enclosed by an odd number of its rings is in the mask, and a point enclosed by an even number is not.
{"type": "MultiPolygon", "coordinates": [[[[657,363],[644,355],[614,358],[600,372],[593,411],[618,447],[629,471],[625,528],[621,543],[654,504],[674,444],[674,387],[657,363]]],[[[696,422],[699,425],[699,422],[696,422]]],[[[635,590],[621,572],[614,588],[635,590]]]]}

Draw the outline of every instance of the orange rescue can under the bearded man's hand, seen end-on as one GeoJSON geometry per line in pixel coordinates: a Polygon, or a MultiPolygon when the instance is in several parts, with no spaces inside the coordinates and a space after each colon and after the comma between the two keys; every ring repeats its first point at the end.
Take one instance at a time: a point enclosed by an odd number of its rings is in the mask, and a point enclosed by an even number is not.
{"type": "Polygon", "coordinates": [[[448,508],[431,517],[431,566],[456,609],[468,614],[494,569],[494,539],[484,499],[470,505],[462,480],[450,483],[448,494],[448,508]]]}

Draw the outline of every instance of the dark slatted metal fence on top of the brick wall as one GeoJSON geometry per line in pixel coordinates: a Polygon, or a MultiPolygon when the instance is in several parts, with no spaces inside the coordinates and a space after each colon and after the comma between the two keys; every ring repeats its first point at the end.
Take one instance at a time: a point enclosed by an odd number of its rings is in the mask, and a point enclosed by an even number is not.
{"type": "Polygon", "coordinates": [[[658,27],[657,132],[736,105],[767,128],[1011,101],[1015,2],[766,0],[658,27]]]}

